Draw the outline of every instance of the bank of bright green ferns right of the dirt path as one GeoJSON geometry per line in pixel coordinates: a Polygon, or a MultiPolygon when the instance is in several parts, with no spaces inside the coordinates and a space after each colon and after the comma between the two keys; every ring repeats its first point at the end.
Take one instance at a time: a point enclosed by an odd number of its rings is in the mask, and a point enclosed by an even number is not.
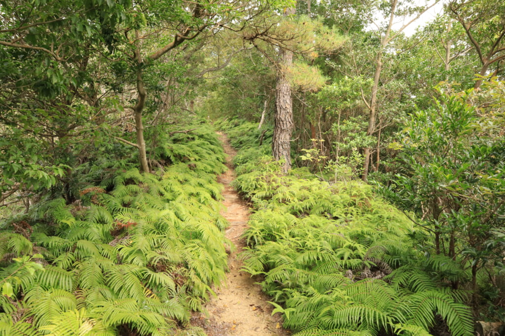
{"type": "Polygon", "coordinates": [[[467,293],[447,282],[463,271],[425,253],[425,234],[405,214],[361,181],[329,183],[306,168],[284,176],[255,125],[220,126],[240,149],[235,187],[255,210],[244,270],[262,276],[284,327],[297,335],[473,334],[467,293]]]}

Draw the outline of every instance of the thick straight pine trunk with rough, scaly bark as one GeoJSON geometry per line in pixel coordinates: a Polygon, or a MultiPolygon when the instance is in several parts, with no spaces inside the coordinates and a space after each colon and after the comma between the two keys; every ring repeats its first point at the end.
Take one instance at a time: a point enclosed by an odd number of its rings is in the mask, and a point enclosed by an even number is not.
{"type": "MultiPolygon", "coordinates": [[[[294,14],[295,9],[289,8],[284,16],[294,14]]],[[[291,88],[286,79],[286,70],[293,63],[293,52],[279,50],[279,65],[277,69],[277,85],[275,89],[275,120],[272,153],[275,160],[284,159],[282,171],[291,169],[291,134],[293,132],[293,102],[291,88]]]]}

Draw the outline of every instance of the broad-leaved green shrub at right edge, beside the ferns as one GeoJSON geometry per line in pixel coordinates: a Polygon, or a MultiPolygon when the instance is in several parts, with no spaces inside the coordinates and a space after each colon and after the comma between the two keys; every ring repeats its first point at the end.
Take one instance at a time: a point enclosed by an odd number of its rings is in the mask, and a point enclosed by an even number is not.
{"type": "Polygon", "coordinates": [[[478,270],[502,259],[505,152],[497,128],[505,106],[497,95],[502,88],[497,81],[480,92],[439,88],[433,106],[412,115],[401,143],[394,144],[404,168],[385,190],[401,207],[424,217],[436,254],[471,269],[471,281],[442,274],[453,283],[471,283],[475,304],[478,270]]]}

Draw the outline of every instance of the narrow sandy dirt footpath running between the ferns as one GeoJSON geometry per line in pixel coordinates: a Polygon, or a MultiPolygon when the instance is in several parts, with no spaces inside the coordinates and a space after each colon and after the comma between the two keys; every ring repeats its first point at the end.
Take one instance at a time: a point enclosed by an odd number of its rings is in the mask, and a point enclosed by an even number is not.
{"type": "Polygon", "coordinates": [[[287,335],[282,328],[280,314],[272,316],[272,305],[267,303],[269,298],[255,284],[258,279],[250,278],[249,274],[240,271],[242,260],[238,254],[245,243],[240,236],[247,229],[249,208],[242,201],[238,193],[230,185],[235,178],[235,171],[231,160],[236,151],[230,146],[228,139],[218,133],[227,154],[226,166],[228,170],[218,177],[218,182],[225,187],[223,191],[226,211],[222,215],[230,226],[226,229],[228,237],[236,246],[228,258],[230,272],[227,273],[226,284],[215,288],[217,298],[213,297],[207,304],[209,316],[203,313],[194,314],[191,324],[205,329],[209,336],[273,336],[287,335]]]}

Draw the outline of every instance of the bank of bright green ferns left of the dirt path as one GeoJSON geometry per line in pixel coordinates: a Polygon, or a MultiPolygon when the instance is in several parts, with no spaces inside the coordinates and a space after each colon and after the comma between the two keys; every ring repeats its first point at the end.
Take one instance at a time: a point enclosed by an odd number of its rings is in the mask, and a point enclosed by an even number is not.
{"type": "Polygon", "coordinates": [[[158,142],[156,172],[104,161],[72,203],[46,199],[4,223],[0,335],[167,335],[201,308],[231,248],[224,152],[206,125],[158,142]]]}

